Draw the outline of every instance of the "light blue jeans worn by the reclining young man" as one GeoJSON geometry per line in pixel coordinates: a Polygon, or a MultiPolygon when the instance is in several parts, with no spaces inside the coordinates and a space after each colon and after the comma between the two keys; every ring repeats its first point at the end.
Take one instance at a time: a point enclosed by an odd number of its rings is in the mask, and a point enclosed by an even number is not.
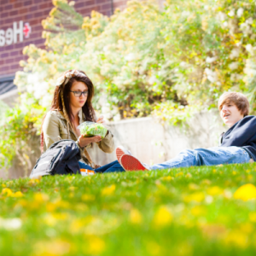
{"type": "Polygon", "coordinates": [[[149,166],[149,170],[159,170],[189,166],[218,166],[221,164],[248,163],[251,159],[246,150],[238,147],[214,147],[186,149],[172,160],[149,166]]]}

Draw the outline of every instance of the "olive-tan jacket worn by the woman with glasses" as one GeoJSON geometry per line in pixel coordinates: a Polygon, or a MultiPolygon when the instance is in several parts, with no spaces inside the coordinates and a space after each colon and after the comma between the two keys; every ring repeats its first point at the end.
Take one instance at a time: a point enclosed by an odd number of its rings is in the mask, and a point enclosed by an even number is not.
{"type": "MultiPolygon", "coordinates": [[[[85,121],[84,113],[82,109],[79,112],[79,125],[85,121]]],[[[46,114],[43,125],[44,131],[44,151],[49,148],[53,143],[60,141],[61,139],[72,139],[77,141],[77,136],[73,133],[71,127],[69,127],[69,136],[67,134],[67,120],[62,113],[57,110],[49,111],[46,114]]],[[[105,153],[112,153],[114,149],[113,135],[108,131],[108,135],[102,139],[100,143],[96,143],[99,148],[105,153]]],[[[89,144],[86,148],[90,148],[89,144]]]]}

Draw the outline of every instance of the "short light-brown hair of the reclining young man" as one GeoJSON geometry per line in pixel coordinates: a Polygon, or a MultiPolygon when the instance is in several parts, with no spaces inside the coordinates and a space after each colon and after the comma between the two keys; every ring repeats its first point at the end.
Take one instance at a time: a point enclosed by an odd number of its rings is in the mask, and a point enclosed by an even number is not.
{"type": "Polygon", "coordinates": [[[240,110],[243,116],[247,116],[249,114],[250,104],[247,100],[247,97],[236,91],[224,92],[224,94],[220,96],[218,99],[218,110],[220,111],[224,104],[231,102],[236,105],[236,108],[240,110]]]}

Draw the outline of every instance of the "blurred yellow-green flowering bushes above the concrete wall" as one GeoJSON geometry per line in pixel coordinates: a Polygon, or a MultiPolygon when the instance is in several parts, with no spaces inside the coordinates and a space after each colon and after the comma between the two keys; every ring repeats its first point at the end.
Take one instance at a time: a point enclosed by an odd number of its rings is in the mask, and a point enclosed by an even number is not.
{"type": "Polygon", "coordinates": [[[67,69],[88,74],[94,106],[109,120],[154,115],[178,124],[215,108],[225,90],[246,93],[254,111],[255,2],[168,0],[160,9],[134,1],[111,17],[93,11],[83,18],[74,2],[54,0],[42,22],[46,49],[27,46],[24,71],[16,73],[23,93],[0,128],[2,165],[38,131],[67,69]]]}

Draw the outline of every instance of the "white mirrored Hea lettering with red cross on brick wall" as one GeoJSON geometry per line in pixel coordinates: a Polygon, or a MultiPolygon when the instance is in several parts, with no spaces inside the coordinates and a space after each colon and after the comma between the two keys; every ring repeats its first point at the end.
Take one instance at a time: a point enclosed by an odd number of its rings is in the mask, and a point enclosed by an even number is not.
{"type": "Polygon", "coordinates": [[[20,20],[18,23],[14,22],[13,28],[8,28],[6,31],[0,29],[0,47],[5,44],[16,44],[18,42],[23,42],[23,37],[29,38],[32,29],[29,23],[25,23],[23,26],[23,21],[20,20]],[[18,41],[19,38],[19,41],[18,41]]]}

